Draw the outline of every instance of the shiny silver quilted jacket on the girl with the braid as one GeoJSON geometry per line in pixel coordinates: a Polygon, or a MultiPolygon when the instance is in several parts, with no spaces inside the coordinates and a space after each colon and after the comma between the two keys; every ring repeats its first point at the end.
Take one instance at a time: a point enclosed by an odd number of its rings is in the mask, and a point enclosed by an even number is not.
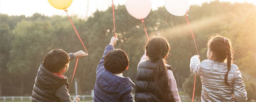
{"type": "Polygon", "coordinates": [[[231,64],[228,73],[228,83],[224,77],[228,71],[227,63],[204,60],[196,56],[190,59],[190,72],[200,76],[202,83],[202,102],[246,102],[244,80],[236,64],[231,64]]]}

